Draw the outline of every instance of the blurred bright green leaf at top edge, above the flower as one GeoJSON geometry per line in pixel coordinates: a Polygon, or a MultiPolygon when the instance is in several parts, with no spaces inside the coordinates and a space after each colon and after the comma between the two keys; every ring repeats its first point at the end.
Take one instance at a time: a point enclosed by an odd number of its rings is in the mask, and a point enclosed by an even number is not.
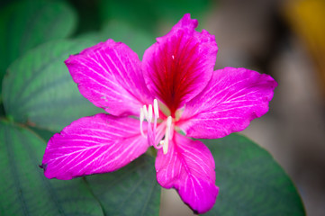
{"type": "MultiPolygon", "coordinates": [[[[101,0],[104,21],[124,21],[135,29],[158,31],[161,24],[175,24],[184,14],[195,19],[212,7],[216,0],[101,0]]],[[[169,27],[170,28],[170,27],[169,27]]]]}

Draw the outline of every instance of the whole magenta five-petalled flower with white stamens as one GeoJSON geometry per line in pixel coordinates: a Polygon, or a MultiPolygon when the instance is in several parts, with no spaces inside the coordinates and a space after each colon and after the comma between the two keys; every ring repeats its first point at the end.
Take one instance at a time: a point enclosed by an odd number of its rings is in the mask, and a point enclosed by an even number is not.
{"type": "Polygon", "coordinates": [[[55,134],[44,175],[66,180],[113,172],[153,146],[158,183],[175,188],[194,211],[209,211],[219,191],[214,160],[201,141],[187,137],[244,130],[267,112],[277,84],[245,68],[213,71],[217,44],[208,31],[194,31],[197,24],[185,14],[142,61],[113,40],[70,56],[66,64],[80,93],[110,114],[81,118],[55,134]]]}

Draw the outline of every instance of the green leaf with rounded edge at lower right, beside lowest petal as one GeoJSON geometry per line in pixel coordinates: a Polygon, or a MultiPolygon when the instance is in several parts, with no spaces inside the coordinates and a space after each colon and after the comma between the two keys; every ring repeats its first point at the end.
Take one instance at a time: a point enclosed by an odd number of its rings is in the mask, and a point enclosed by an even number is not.
{"type": "Polygon", "coordinates": [[[204,215],[305,215],[290,177],[265,149],[239,134],[203,142],[214,157],[220,187],[212,211],[204,215]]]}

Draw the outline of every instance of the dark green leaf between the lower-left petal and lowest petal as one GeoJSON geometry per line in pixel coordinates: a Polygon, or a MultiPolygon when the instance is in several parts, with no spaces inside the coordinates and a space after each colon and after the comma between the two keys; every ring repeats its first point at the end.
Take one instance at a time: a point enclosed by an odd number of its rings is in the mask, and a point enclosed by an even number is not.
{"type": "Polygon", "coordinates": [[[144,155],[113,173],[86,177],[105,215],[158,215],[155,159],[144,155]]]}

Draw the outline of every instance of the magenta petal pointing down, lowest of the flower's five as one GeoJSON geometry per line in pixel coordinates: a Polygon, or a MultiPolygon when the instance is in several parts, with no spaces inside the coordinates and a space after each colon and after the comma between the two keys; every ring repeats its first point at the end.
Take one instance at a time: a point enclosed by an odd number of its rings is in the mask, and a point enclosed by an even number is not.
{"type": "Polygon", "coordinates": [[[158,150],[157,180],[165,188],[174,187],[194,211],[209,211],[217,197],[214,160],[209,148],[175,133],[168,152],[158,150]]]}

